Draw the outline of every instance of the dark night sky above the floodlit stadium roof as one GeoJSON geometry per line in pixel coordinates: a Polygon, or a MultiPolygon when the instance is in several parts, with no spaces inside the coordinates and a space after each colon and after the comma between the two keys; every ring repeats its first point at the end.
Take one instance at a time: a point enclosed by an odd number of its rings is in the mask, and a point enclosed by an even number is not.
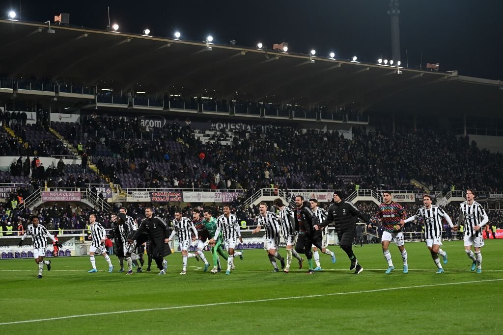
{"type": "MultiPolygon", "coordinates": [[[[0,8],[19,12],[19,0],[4,0],[0,8]]],[[[110,19],[120,31],[252,47],[288,42],[292,52],[353,55],[376,62],[391,57],[389,0],[253,0],[253,1],[130,1],[21,0],[23,21],[44,22],[59,13],[70,24],[105,29],[110,19]]],[[[440,70],[503,80],[503,1],[401,0],[401,61],[408,66],[440,63],[440,70]]],[[[0,15],[1,16],[1,15],[0,15]]]]}

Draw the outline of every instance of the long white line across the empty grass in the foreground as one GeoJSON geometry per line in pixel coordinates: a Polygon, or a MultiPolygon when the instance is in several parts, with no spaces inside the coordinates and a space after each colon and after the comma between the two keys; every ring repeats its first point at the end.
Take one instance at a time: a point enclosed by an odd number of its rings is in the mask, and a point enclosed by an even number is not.
{"type": "Polygon", "coordinates": [[[475,280],[475,281],[465,281],[465,282],[459,282],[459,283],[444,283],[444,284],[431,284],[431,285],[390,287],[390,288],[380,288],[380,289],[377,289],[377,290],[366,290],[366,291],[352,291],[352,292],[337,292],[337,293],[327,293],[327,294],[301,295],[301,296],[296,296],[296,297],[283,297],[283,298],[244,300],[244,301],[227,301],[227,302],[215,302],[215,303],[200,304],[200,305],[186,305],[186,306],[172,306],[172,307],[157,307],[157,308],[145,308],[145,309],[120,310],[120,311],[115,311],[115,312],[103,312],[103,313],[92,313],[92,314],[77,314],[77,315],[49,317],[49,318],[45,318],[45,319],[32,319],[32,320],[21,320],[21,321],[11,321],[11,322],[0,322],[0,325],[30,323],[30,322],[42,322],[42,321],[54,321],[54,320],[71,319],[71,318],[77,318],[77,317],[86,317],[86,316],[101,316],[101,315],[110,315],[110,314],[149,312],[149,311],[154,311],[154,310],[170,310],[170,309],[184,309],[184,308],[195,308],[195,307],[210,307],[210,306],[233,305],[233,304],[254,303],[254,302],[266,302],[266,301],[279,301],[279,300],[293,300],[293,299],[328,297],[328,296],[335,296],[335,295],[348,295],[348,294],[358,294],[358,293],[374,293],[374,292],[382,292],[382,291],[403,290],[403,289],[409,289],[409,288],[422,288],[422,287],[435,287],[435,286],[451,286],[451,285],[459,285],[459,284],[484,283],[484,282],[501,281],[501,280],[503,280],[503,278],[500,278],[500,279],[487,279],[487,280],[475,280]]]}

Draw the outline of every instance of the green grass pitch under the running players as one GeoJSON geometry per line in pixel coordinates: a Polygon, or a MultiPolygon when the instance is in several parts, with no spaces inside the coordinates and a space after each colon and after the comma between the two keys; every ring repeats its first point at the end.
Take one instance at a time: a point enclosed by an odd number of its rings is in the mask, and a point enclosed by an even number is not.
{"type": "Polygon", "coordinates": [[[203,273],[193,258],[180,276],[180,253],[166,257],[164,276],[117,273],[115,256],[108,273],[100,256],[98,273],[87,273],[89,257],[58,258],[36,279],[32,259],[2,260],[0,333],[502,332],[503,241],[486,241],[481,274],[469,270],[461,241],[444,243],[443,274],[423,243],[405,247],[409,273],[391,245],[396,269],[389,275],[380,245],[354,248],[365,269],[359,275],[337,246],[329,247],[337,263],[322,254],[323,271],[314,275],[295,269],[295,259],[289,274],[273,273],[263,250],[245,250],[230,276],[203,273]]]}

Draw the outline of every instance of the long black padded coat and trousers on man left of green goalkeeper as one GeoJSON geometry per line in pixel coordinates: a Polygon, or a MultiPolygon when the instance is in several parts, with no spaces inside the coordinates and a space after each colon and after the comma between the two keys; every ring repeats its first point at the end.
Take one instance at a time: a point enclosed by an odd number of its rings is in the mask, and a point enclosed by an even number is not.
{"type": "Polygon", "coordinates": [[[170,230],[164,225],[164,222],[158,217],[146,218],[141,221],[140,227],[131,238],[132,240],[137,240],[137,243],[143,243],[144,234],[148,234],[148,240],[150,241],[149,249],[152,254],[152,258],[157,264],[157,268],[162,270],[163,258],[171,254],[171,248],[169,245],[164,243],[164,239],[170,238],[170,230]]]}

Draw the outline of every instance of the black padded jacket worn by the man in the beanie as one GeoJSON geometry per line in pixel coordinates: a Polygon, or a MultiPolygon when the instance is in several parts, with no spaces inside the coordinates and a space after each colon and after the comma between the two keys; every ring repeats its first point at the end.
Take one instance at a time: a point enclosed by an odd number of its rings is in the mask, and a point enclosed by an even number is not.
{"type": "Polygon", "coordinates": [[[320,227],[328,226],[332,221],[336,225],[336,230],[339,235],[346,231],[355,231],[357,217],[361,218],[364,222],[368,222],[367,215],[360,212],[351,202],[342,200],[337,203],[334,202],[328,207],[328,214],[320,227]]]}

